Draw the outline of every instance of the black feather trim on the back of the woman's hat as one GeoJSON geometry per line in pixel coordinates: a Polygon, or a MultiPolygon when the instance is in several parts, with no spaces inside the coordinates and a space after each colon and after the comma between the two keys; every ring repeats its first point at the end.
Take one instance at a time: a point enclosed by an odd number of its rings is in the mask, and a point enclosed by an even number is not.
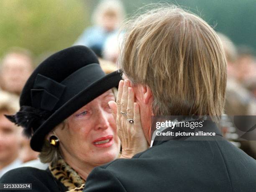
{"type": "Polygon", "coordinates": [[[33,130],[35,131],[50,115],[51,113],[45,110],[21,106],[15,115],[5,115],[5,117],[15,125],[22,126],[24,128],[23,133],[27,137],[31,137],[33,130]]]}

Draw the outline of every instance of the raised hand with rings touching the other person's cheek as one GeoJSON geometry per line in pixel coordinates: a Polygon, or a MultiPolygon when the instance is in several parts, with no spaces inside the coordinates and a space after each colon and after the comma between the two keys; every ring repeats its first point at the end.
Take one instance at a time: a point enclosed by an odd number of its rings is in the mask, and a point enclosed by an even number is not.
{"type": "Polygon", "coordinates": [[[129,80],[119,82],[116,103],[110,101],[109,105],[116,118],[117,133],[122,144],[121,158],[131,158],[145,151],[148,142],[141,125],[139,105],[134,102],[134,92],[129,80]]]}

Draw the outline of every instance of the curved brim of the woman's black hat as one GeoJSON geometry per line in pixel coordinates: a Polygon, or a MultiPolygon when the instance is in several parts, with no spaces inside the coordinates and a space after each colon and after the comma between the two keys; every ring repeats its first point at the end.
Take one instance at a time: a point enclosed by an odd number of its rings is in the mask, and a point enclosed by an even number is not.
{"type": "Polygon", "coordinates": [[[45,141],[45,136],[63,120],[82,108],[87,103],[102,95],[104,92],[118,86],[121,80],[118,72],[112,72],[92,83],[77,95],[72,97],[68,102],[56,110],[33,134],[30,146],[34,151],[40,152],[45,141]]]}

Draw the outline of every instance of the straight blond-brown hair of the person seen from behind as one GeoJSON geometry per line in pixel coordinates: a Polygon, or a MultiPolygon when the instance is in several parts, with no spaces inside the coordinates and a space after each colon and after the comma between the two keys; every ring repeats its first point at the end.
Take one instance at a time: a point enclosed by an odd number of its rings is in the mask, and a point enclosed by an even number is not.
{"type": "Polygon", "coordinates": [[[153,92],[154,115],[223,113],[226,60],[215,31],[176,6],[161,6],[130,20],[118,67],[153,92]]]}

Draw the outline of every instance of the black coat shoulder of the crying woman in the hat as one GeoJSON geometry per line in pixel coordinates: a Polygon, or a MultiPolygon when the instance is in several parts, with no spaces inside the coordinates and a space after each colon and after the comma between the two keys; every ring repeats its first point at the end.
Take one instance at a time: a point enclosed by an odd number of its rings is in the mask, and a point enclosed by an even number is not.
{"type": "Polygon", "coordinates": [[[3,190],[8,192],[68,191],[67,187],[53,177],[49,169],[41,170],[33,167],[21,167],[10,170],[1,177],[0,183],[32,183],[32,190],[3,190]]]}

